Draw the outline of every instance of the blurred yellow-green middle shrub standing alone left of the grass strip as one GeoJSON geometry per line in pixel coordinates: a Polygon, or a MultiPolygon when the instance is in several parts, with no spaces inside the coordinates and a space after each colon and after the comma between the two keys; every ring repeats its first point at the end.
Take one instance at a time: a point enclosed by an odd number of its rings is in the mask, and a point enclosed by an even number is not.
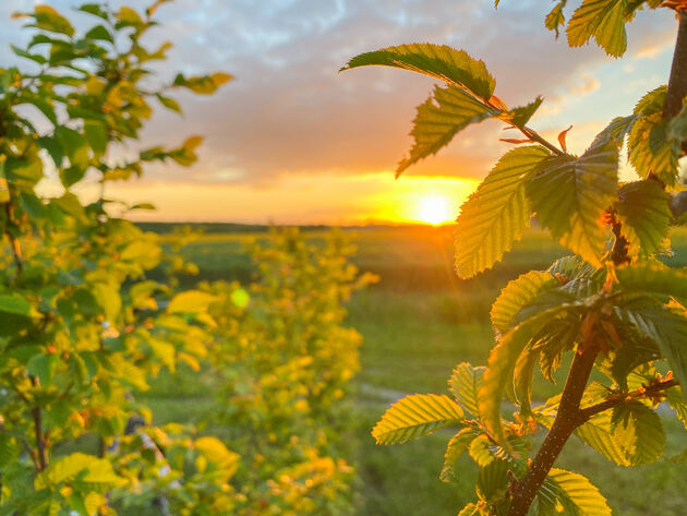
{"type": "Polygon", "coordinates": [[[360,335],[342,326],[341,303],[375,280],[358,274],[353,252],[339,232],[318,244],[297,229],[275,231],[252,247],[258,280],[248,291],[204,287],[221,299],[210,309],[219,328],[209,347],[213,421],[241,451],[232,514],[351,512],[341,400],[359,367],[360,335]]]}

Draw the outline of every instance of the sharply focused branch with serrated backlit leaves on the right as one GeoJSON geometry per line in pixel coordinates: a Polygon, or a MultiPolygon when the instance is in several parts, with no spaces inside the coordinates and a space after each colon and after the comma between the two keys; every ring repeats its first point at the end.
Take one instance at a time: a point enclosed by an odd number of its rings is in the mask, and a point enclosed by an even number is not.
{"type": "MultiPolygon", "coordinates": [[[[546,27],[558,32],[565,26],[566,3],[556,3],[546,27]]],[[[665,3],[680,21],[678,56],[687,47],[687,5],[665,3]]],[[[567,23],[568,44],[593,38],[619,57],[626,49],[625,24],[636,11],[662,4],[583,0],[567,23]]],[[[411,132],[415,143],[397,173],[485,118],[501,119],[525,135],[506,140],[518,147],[461,209],[456,227],[461,277],[499,261],[533,215],[576,253],[547,271],[520,276],[502,291],[492,309],[496,346],[485,369],[456,368],[449,380],[456,401],[436,395],[401,399],[373,435],[390,444],[454,425],[458,433],[448,444],[442,480],[455,478],[454,465],[466,452],[479,467],[478,500],[460,514],[611,514],[589,480],[552,466],[574,432],[620,466],[653,463],[665,444],[656,405],[667,399],[679,416],[686,404],[678,386],[687,381],[685,273],[655,257],[670,248],[674,217],[666,189],[679,182],[687,139],[685,63],[674,63],[667,86],[648,93],[631,115],[613,120],[579,157],[568,153],[566,131],[557,146],[527,125],[541,98],[508,108],[493,94],[495,82],[484,63],[463,50],[401,45],[353,58],[345,69],[369,64],[447,83],[418,108],[411,132]],[[641,180],[622,184],[617,171],[626,141],[641,180]],[[552,380],[565,355],[574,358],[563,391],[531,407],[534,368],[552,380]],[[605,380],[588,385],[594,368],[605,380]],[[505,395],[518,407],[515,420],[502,416],[505,395]],[[541,428],[547,433],[531,457],[532,436],[541,428]]]]}

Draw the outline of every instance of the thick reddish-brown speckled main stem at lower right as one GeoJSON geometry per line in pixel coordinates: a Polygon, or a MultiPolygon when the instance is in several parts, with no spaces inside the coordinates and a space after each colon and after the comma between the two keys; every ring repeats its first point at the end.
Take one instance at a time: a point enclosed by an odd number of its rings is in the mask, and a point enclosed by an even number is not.
{"type": "Polygon", "coordinates": [[[596,347],[592,346],[575,355],[568,379],[565,382],[556,419],[534,460],[532,460],[525,479],[515,485],[508,516],[527,515],[558,454],[561,454],[572,431],[579,427],[580,401],[598,352],[596,347]]]}

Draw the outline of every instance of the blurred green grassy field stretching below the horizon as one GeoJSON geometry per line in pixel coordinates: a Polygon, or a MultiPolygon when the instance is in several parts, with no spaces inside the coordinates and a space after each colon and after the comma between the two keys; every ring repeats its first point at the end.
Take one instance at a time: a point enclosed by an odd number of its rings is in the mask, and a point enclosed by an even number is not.
{"type": "MultiPolygon", "coordinates": [[[[318,238],[322,230],[309,231],[318,238]]],[[[361,371],[355,380],[351,417],[354,421],[352,457],[361,481],[361,516],[455,515],[474,499],[472,463],[463,457],[465,482],[439,482],[444,447],[449,433],[438,433],[403,446],[376,446],[370,429],[389,401],[405,393],[445,392],[446,379],[461,361],[483,364],[493,346],[489,309],[501,288],[531,268],[545,268],[563,250],[540,230],[532,230],[503,264],[477,279],[458,280],[453,272],[453,238],[446,228],[359,229],[355,263],[381,276],[379,284],[358,293],[349,303],[349,324],[364,337],[361,371]]],[[[201,279],[249,280],[254,274],[243,245],[264,233],[213,232],[188,245],[184,254],[201,271],[201,279]]],[[[687,255],[687,232],[674,248],[687,255]]],[[[667,259],[674,265],[683,265],[667,259]]],[[[185,278],[186,281],[197,278],[185,278]]],[[[179,386],[174,389],[178,392],[179,386]]],[[[534,398],[553,393],[537,379],[534,398]]],[[[202,397],[192,388],[179,399],[160,396],[153,401],[167,417],[193,418],[202,397]],[[192,409],[192,410],[190,410],[192,409]]],[[[687,445],[685,430],[666,412],[666,455],[687,445]]],[[[661,461],[620,469],[579,441],[570,442],[559,467],[579,470],[608,497],[615,514],[644,516],[661,507],[663,516],[685,514],[687,466],[661,461]]]]}

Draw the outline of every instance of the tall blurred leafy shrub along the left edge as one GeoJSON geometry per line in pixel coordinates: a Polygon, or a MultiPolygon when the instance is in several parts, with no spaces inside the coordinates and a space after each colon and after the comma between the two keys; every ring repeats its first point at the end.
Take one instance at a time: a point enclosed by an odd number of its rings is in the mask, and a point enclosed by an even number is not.
{"type": "MultiPolygon", "coordinates": [[[[150,422],[137,395],[152,377],[206,352],[205,295],[147,278],[155,267],[184,264],[169,260],[156,236],[112,215],[150,206],[105,195],[106,184],[141,176],[146,163],[191,165],[200,136],[176,148],[133,153],[131,144],[152,103],[179,110],[168,96],[174,89],[209,94],[229,79],[155,84],[150,64],[171,45],[149,49],[143,39],[161,3],[143,14],[84,4],[93,21],[85,31],[48,5],[16,14],[33,38],[12,48],[31,61],[26,70],[0,70],[0,514],[114,514],[109,500],[121,493],[155,496],[150,476],[159,470],[146,463],[159,457],[150,446],[137,449],[143,434],[123,434],[134,413],[150,422]],[[62,193],[40,193],[44,179],[58,180],[62,193]],[[75,189],[94,181],[100,195],[82,203],[75,189]]],[[[165,482],[179,478],[184,460],[195,465],[184,475],[184,514],[224,504],[231,452],[190,429],[148,432],[169,446],[165,482]]]]}

